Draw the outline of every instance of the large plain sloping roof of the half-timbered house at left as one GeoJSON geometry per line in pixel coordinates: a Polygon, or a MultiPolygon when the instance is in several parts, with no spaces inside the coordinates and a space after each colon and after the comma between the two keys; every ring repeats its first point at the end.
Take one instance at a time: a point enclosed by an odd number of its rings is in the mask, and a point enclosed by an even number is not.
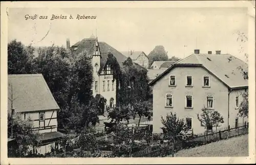
{"type": "Polygon", "coordinates": [[[8,84],[9,112],[11,103],[15,112],[59,109],[41,74],[8,75],[8,84]]]}

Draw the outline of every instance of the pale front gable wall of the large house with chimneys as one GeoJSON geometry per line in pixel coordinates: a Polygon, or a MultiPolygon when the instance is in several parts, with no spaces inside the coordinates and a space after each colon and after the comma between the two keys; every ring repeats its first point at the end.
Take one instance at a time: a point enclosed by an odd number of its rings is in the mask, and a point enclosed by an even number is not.
{"type": "Polygon", "coordinates": [[[201,113],[203,106],[206,106],[206,97],[214,97],[214,109],[219,111],[224,117],[224,124],[227,126],[228,116],[228,88],[220,82],[216,77],[208,73],[202,67],[175,67],[170,73],[162,77],[153,87],[153,133],[162,132],[161,115],[176,112],[178,117],[185,120],[186,117],[192,118],[192,128],[194,133],[204,132],[204,127],[197,119],[197,113],[201,113]],[[169,86],[169,76],[176,77],[177,86],[169,86]],[[203,76],[210,76],[210,87],[203,86],[203,76]],[[185,87],[186,76],[193,77],[193,87],[185,87]],[[172,93],[173,108],[165,107],[165,95],[172,93]],[[190,94],[193,98],[193,109],[185,108],[186,94],[190,94]]]}

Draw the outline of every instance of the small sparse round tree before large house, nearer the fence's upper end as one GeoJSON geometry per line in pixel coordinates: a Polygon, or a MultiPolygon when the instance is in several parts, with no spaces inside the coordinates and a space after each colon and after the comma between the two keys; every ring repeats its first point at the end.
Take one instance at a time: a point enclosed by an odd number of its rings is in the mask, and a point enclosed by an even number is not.
{"type": "Polygon", "coordinates": [[[224,123],[223,116],[218,111],[207,110],[203,107],[201,114],[197,114],[197,119],[202,126],[206,127],[206,134],[208,134],[209,129],[212,131],[212,127],[220,126],[221,123],[224,123]]]}

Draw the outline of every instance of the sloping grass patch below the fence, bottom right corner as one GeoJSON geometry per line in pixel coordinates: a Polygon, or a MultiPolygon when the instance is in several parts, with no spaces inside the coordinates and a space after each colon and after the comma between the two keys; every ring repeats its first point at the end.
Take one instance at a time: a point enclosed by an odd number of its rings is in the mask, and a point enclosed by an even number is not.
{"type": "MultiPolygon", "coordinates": [[[[175,157],[248,156],[248,134],[191,149],[180,150],[175,157]]],[[[168,157],[172,157],[169,155],[168,157]]]]}

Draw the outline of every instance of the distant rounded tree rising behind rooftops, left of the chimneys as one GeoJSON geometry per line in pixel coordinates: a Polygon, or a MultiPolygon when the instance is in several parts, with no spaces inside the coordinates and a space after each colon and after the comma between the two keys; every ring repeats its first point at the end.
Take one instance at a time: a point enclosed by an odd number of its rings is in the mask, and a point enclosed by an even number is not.
{"type": "Polygon", "coordinates": [[[152,65],[154,61],[167,61],[168,55],[167,52],[165,52],[164,47],[162,45],[157,45],[153,51],[148,54],[149,59],[149,66],[152,65]]]}

